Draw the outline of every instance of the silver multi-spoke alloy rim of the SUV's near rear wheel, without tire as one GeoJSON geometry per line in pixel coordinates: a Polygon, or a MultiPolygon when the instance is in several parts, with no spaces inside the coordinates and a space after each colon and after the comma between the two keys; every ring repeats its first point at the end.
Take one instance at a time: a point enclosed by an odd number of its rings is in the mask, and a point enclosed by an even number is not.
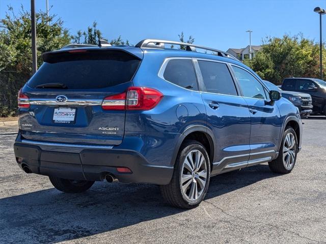
{"type": "Polygon", "coordinates": [[[180,175],[183,197],[196,201],[203,194],[207,182],[207,166],[204,155],[194,149],[185,157],[180,175]]]}

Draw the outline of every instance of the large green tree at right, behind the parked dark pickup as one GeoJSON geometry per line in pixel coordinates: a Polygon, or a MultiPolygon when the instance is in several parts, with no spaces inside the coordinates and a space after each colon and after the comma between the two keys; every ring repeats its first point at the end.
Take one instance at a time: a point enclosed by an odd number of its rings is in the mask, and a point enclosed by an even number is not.
{"type": "MultiPolygon", "coordinates": [[[[275,84],[287,77],[319,77],[319,44],[302,35],[268,38],[252,59],[244,60],[257,74],[275,84]]],[[[326,49],[323,45],[323,66],[326,49]]],[[[326,70],[323,70],[323,76],[326,70]]]]}

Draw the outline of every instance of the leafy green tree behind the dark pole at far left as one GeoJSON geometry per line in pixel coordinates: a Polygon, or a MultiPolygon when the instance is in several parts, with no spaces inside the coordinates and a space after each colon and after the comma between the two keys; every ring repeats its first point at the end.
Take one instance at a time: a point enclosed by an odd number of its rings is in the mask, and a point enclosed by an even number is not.
{"type": "MultiPolygon", "coordinates": [[[[41,54],[56,50],[70,42],[68,30],[56,15],[36,13],[38,66],[41,54]]],[[[0,19],[0,116],[13,115],[17,93],[32,75],[31,14],[21,7],[16,15],[12,7],[0,19]]]]}

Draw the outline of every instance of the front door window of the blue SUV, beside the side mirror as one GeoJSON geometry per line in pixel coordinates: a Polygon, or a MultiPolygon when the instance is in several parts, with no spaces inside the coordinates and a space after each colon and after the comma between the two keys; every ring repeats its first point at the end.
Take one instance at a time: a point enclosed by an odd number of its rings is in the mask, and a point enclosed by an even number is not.
{"type": "Polygon", "coordinates": [[[233,66],[244,97],[267,99],[263,85],[249,72],[233,66]]]}

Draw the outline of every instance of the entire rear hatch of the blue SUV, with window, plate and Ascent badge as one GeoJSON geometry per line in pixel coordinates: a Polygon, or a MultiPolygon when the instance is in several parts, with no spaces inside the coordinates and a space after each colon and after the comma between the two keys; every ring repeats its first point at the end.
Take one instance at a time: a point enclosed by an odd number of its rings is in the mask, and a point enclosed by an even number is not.
{"type": "MultiPolygon", "coordinates": [[[[130,48],[129,48],[130,49],[130,48]]],[[[43,54],[44,64],[23,87],[30,107],[20,108],[24,139],[118,145],[125,127],[121,100],[141,63],[142,52],[122,48],[68,49],[43,54]],[[108,109],[108,110],[107,110],[108,109]]],[[[138,50],[137,50],[138,49],[138,50]]]]}

